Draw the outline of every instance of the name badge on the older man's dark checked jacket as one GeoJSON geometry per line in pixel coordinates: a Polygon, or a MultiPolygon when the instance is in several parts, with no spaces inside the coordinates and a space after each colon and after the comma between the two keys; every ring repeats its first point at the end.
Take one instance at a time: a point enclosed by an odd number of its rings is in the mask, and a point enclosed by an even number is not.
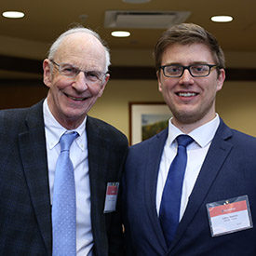
{"type": "Polygon", "coordinates": [[[108,182],[104,213],[115,211],[119,182],[108,182]]]}

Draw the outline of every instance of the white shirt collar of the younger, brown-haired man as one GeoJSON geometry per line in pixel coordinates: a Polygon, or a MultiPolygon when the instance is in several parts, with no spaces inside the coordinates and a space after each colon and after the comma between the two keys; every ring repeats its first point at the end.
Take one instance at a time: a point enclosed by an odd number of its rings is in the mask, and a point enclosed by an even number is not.
{"type": "MultiPolygon", "coordinates": [[[[175,127],[171,123],[170,118],[168,120],[168,145],[171,145],[177,136],[184,134],[182,130],[175,127]]],[[[216,113],[216,116],[210,120],[208,123],[204,124],[203,126],[199,128],[195,128],[193,131],[191,131],[188,135],[191,136],[194,141],[200,146],[200,147],[206,147],[210,141],[212,141],[217,128],[220,125],[220,116],[216,113]]]]}

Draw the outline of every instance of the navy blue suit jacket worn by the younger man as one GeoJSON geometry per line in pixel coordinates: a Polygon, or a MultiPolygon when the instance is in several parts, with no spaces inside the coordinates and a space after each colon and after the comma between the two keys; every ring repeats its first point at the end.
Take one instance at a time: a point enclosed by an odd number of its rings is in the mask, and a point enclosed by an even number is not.
{"type": "Polygon", "coordinates": [[[177,234],[168,249],[155,209],[156,181],[168,136],[164,130],[130,148],[125,166],[123,208],[128,255],[256,255],[256,228],[211,237],[206,205],[249,196],[256,225],[256,139],[221,120],[177,234]]]}

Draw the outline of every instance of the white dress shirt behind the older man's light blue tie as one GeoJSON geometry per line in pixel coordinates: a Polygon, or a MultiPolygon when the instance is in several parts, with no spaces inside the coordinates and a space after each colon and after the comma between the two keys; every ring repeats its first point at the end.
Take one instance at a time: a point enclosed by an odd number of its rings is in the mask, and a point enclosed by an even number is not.
{"type": "MultiPolygon", "coordinates": [[[[67,129],[63,128],[51,114],[47,105],[47,99],[44,101],[43,112],[47,140],[47,165],[50,201],[52,202],[55,166],[57,163],[57,158],[61,152],[61,145],[59,141],[62,134],[65,133],[67,129]]],[[[79,136],[74,140],[70,148],[70,158],[74,165],[74,182],[76,195],[77,256],[93,255],[86,120],[87,118],[85,118],[83,123],[75,129],[79,136]]]]}

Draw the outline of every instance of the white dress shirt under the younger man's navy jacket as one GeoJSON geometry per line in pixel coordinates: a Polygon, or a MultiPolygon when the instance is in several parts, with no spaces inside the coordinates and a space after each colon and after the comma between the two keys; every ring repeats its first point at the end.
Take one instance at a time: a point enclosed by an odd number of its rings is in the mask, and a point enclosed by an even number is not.
{"type": "MultiPolygon", "coordinates": [[[[208,153],[209,145],[216,133],[217,128],[219,127],[219,124],[220,117],[218,114],[216,114],[216,117],[209,121],[209,123],[199,128],[195,128],[188,134],[194,139],[194,141],[187,146],[187,166],[185,169],[182,186],[180,221],[182,220],[183,213],[188,204],[189,196],[192,193],[195,181],[208,153]]],[[[156,210],[158,216],[162,194],[168,176],[168,168],[177,154],[178,144],[175,139],[181,134],[183,134],[183,132],[179,128],[172,125],[171,119],[169,119],[168,139],[162,154],[156,187],[156,210]]]]}

